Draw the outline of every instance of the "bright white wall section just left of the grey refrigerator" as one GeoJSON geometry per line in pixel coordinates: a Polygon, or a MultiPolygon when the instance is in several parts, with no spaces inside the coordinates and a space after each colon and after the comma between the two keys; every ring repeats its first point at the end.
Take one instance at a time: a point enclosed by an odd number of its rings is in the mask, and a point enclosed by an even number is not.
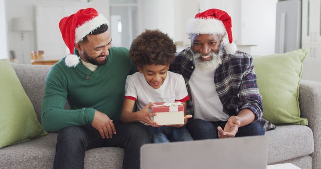
{"type": "Polygon", "coordinates": [[[275,52],[277,0],[242,0],[240,44],[255,44],[251,55],[275,52]]]}

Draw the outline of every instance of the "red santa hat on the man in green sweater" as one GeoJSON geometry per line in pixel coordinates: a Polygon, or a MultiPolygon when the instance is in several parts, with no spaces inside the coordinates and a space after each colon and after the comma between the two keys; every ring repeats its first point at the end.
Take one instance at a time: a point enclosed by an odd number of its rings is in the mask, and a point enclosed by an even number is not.
{"type": "Polygon", "coordinates": [[[81,9],[60,20],[59,29],[70,51],[65,59],[65,64],[68,67],[75,67],[79,63],[79,57],[74,54],[75,43],[80,42],[102,24],[109,26],[108,20],[94,8],[81,9]]]}

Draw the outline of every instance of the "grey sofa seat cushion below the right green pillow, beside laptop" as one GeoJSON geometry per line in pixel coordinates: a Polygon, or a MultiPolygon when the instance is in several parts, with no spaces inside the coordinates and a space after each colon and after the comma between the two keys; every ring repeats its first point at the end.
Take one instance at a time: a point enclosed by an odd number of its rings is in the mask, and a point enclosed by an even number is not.
{"type": "Polygon", "coordinates": [[[265,135],[269,137],[268,163],[310,155],[314,151],[313,133],[307,126],[277,126],[265,135]]]}

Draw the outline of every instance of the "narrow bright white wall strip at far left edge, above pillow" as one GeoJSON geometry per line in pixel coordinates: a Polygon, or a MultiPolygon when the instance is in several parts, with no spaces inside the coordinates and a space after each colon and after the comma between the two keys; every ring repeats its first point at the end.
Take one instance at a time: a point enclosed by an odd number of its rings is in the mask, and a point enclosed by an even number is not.
{"type": "Polygon", "coordinates": [[[0,0],[0,59],[8,58],[5,0],[0,0]]]}

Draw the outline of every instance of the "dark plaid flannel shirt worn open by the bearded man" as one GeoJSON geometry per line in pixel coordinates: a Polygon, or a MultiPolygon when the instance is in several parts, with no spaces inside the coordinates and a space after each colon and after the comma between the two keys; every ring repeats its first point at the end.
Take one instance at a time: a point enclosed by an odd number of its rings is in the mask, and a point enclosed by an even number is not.
{"type": "MultiPolygon", "coordinates": [[[[190,96],[187,102],[186,113],[194,114],[193,98],[190,92],[189,79],[195,68],[193,50],[188,47],[176,54],[170,71],[182,74],[190,96]]],[[[219,56],[222,64],[215,70],[214,83],[217,94],[223,104],[223,112],[228,115],[237,115],[242,109],[250,109],[255,114],[265,131],[276,126],[261,118],[263,115],[262,96],[256,83],[256,74],[252,57],[244,52],[237,51],[234,55],[225,52],[221,45],[219,56]]]]}

